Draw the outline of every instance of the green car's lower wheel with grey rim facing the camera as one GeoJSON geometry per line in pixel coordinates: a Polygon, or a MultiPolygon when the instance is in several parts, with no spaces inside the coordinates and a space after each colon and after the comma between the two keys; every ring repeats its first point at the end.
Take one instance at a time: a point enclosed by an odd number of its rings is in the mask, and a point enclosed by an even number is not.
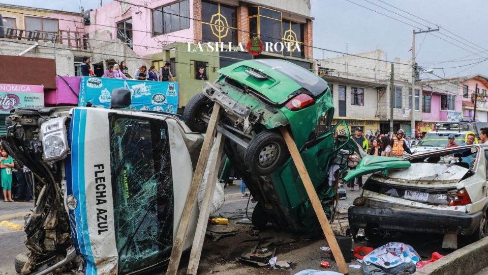
{"type": "Polygon", "coordinates": [[[251,173],[265,176],[288,159],[289,152],[281,134],[264,130],[253,137],[246,149],[244,161],[251,173]]]}

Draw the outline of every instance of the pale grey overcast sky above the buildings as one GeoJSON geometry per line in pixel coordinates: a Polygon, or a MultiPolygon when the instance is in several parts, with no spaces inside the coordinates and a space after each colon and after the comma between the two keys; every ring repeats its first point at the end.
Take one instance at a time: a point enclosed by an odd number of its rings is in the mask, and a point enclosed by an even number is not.
{"type": "MultiPolygon", "coordinates": [[[[74,12],[79,11],[80,4],[84,9],[96,9],[100,6],[100,1],[107,4],[112,0],[0,0],[1,3],[6,4],[74,12]]],[[[412,46],[412,30],[426,30],[429,26],[435,29],[436,25],[439,25],[439,32],[416,35],[416,61],[419,66],[424,69],[433,68],[434,73],[441,77],[475,73],[488,75],[488,60],[485,61],[488,59],[488,20],[485,16],[488,1],[486,0],[311,0],[311,4],[311,15],[315,17],[314,47],[348,53],[379,48],[387,53],[389,61],[395,57],[406,60],[411,58],[409,49],[412,46]],[[445,62],[452,60],[456,62],[445,62]]],[[[338,56],[338,53],[324,52],[317,48],[314,50],[315,59],[338,56]]],[[[432,76],[432,78],[437,77],[432,76]]]]}

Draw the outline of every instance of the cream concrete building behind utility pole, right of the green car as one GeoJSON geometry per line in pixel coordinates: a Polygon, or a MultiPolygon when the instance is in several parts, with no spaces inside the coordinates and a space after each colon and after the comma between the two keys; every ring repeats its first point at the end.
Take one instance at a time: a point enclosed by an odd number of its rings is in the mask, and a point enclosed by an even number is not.
{"type": "MultiPolygon", "coordinates": [[[[365,113],[364,116],[359,116],[363,121],[379,120],[378,129],[382,133],[390,130],[390,106],[393,107],[393,130],[400,128],[404,129],[407,135],[411,135],[411,116],[415,116],[415,121],[421,121],[422,102],[420,99],[421,86],[415,84],[414,96],[414,111],[412,108],[412,66],[411,60],[402,61],[395,58],[394,64],[394,87],[393,93],[390,92],[390,78],[391,78],[391,64],[385,62],[386,53],[382,50],[375,50],[370,52],[356,53],[355,56],[338,56],[321,60],[319,72],[338,77],[347,78],[351,80],[369,82],[376,90],[370,90],[368,95],[364,97],[376,98],[375,101],[364,102],[364,109],[374,109],[376,113],[365,113]],[[391,96],[393,97],[391,101],[391,96]]],[[[364,90],[366,93],[367,91],[364,90]]],[[[352,94],[352,91],[347,90],[345,94],[352,94]]],[[[340,94],[334,94],[335,97],[340,94]]],[[[347,101],[346,101],[347,102],[347,101]]],[[[346,104],[347,105],[347,104],[346,104]]],[[[349,106],[349,105],[347,105],[349,106]]],[[[350,114],[346,112],[346,117],[350,114]]]]}

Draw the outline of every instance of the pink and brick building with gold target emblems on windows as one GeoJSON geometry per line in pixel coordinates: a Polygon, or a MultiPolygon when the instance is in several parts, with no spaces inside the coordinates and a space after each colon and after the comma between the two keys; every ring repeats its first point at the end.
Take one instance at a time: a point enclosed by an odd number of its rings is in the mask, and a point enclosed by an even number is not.
{"type": "Polygon", "coordinates": [[[201,67],[210,81],[221,67],[253,58],[286,59],[315,69],[310,0],[128,2],[113,1],[89,11],[85,30],[90,45],[107,53],[114,48],[119,52],[111,56],[94,54],[93,63],[119,63],[123,59],[120,56],[128,52],[137,56],[125,60],[131,71],[141,65],[161,68],[170,62],[180,84],[180,107],[201,92],[204,80],[196,79],[201,67]],[[258,56],[247,51],[253,37],[259,37],[264,46],[258,56]],[[207,42],[219,44],[209,47],[207,42]],[[293,47],[269,46],[276,42],[289,42],[293,47]]]}

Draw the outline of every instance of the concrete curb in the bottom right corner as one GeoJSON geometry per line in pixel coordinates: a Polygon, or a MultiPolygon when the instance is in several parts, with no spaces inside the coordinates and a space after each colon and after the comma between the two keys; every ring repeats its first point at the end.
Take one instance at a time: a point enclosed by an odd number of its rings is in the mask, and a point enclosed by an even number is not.
{"type": "Polygon", "coordinates": [[[488,238],[466,245],[426,265],[414,275],[472,275],[488,265],[488,238]]]}

